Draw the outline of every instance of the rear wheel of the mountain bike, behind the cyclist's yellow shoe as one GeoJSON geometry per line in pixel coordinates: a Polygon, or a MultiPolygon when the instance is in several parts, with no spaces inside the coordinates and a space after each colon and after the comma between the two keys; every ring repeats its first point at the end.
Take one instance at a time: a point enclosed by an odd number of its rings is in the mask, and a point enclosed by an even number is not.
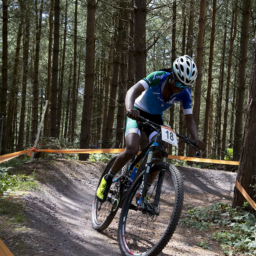
{"type": "MultiPolygon", "coordinates": [[[[114,155],[109,163],[106,165],[102,176],[99,180],[98,186],[102,180],[102,178],[108,174],[111,166],[113,165],[114,161],[116,160],[117,155],[114,155]]],[[[116,175],[115,178],[118,178],[118,174],[116,175]]],[[[96,191],[97,191],[96,188],[96,191]]],[[[113,221],[116,212],[118,210],[118,200],[120,198],[120,182],[113,182],[113,184],[111,185],[110,189],[109,189],[109,196],[108,199],[104,202],[101,203],[99,202],[99,200],[97,199],[96,196],[96,192],[95,192],[95,196],[94,196],[94,200],[93,200],[93,208],[91,211],[91,223],[93,225],[93,228],[95,230],[98,231],[102,231],[104,229],[106,229],[110,223],[113,221]],[[111,199],[115,201],[115,203],[111,202],[111,199]]]]}

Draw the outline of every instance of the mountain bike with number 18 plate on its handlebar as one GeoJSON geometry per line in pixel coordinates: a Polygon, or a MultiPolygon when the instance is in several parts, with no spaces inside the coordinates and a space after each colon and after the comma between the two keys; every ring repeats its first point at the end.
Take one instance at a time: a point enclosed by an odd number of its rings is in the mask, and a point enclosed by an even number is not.
{"type": "MultiPolygon", "coordinates": [[[[99,202],[95,193],[91,215],[93,228],[102,231],[112,222],[118,208],[122,208],[118,244],[124,256],[158,255],[172,237],[181,215],[183,183],[178,169],[166,162],[168,154],[163,148],[162,137],[172,144],[177,144],[177,136],[192,147],[195,144],[187,135],[176,134],[168,125],[161,126],[143,117],[139,121],[158,135],[116,174],[104,203],[99,202]],[[147,189],[151,175],[155,179],[147,189]]],[[[114,155],[110,159],[99,183],[116,158],[114,155]]]]}

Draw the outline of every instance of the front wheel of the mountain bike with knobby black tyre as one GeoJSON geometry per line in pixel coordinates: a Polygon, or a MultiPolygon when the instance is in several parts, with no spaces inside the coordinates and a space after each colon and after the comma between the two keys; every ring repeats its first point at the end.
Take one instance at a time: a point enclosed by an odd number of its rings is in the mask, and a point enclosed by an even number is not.
{"type": "Polygon", "coordinates": [[[143,174],[136,179],[125,199],[118,226],[118,242],[124,256],[158,255],[178,224],[184,196],[180,173],[175,166],[166,162],[155,163],[150,174],[155,172],[158,173],[157,177],[144,201],[147,210],[136,207],[143,174]],[[157,189],[158,200],[155,199],[157,189]]]}

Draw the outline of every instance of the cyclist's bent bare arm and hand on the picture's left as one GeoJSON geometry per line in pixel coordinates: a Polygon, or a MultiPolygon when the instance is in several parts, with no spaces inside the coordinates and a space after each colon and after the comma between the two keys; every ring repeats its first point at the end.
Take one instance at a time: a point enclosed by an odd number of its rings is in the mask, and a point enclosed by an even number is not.
{"type": "Polygon", "coordinates": [[[128,91],[125,97],[125,107],[126,110],[129,112],[128,117],[134,120],[138,120],[140,117],[140,112],[136,109],[133,109],[133,105],[135,99],[139,97],[140,94],[143,93],[145,90],[144,86],[138,82],[134,84],[128,91]]]}

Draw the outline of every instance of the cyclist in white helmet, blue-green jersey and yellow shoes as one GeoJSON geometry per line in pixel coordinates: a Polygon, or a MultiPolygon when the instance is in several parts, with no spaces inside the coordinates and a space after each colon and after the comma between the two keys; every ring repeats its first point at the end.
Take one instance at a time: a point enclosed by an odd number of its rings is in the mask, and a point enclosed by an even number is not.
{"type": "MultiPolygon", "coordinates": [[[[129,112],[125,130],[126,149],[118,155],[110,171],[106,174],[97,189],[97,197],[104,202],[108,195],[113,177],[130,159],[135,158],[140,146],[141,127],[137,121],[141,116],[159,125],[163,124],[163,111],[172,104],[181,101],[191,138],[195,140],[198,149],[203,143],[198,138],[196,123],[192,113],[191,86],[197,76],[197,68],[191,57],[184,55],[176,59],[173,68],[162,69],[149,74],[127,91],[125,107],[129,112]]],[[[157,132],[143,129],[151,141],[157,132]]],[[[155,177],[150,178],[148,187],[155,177]]]]}

